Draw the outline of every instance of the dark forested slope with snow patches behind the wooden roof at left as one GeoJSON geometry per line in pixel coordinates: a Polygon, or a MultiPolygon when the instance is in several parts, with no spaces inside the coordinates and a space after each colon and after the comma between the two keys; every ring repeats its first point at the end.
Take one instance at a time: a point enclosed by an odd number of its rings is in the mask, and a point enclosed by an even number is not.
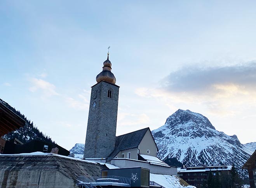
{"type": "Polygon", "coordinates": [[[28,120],[28,118],[25,117],[24,114],[22,114],[19,110],[16,110],[2,99],[0,99],[0,103],[2,103],[10,111],[12,111],[13,113],[15,113],[16,115],[18,115],[26,121],[24,127],[21,127],[20,129],[5,134],[3,136],[4,139],[11,140],[17,138],[22,143],[27,143],[34,139],[40,139],[49,143],[55,143],[54,141],[52,141],[50,137],[46,136],[45,134],[43,134],[43,132],[39,131],[39,129],[35,127],[33,122],[31,122],[31,120],[28,120]]]}

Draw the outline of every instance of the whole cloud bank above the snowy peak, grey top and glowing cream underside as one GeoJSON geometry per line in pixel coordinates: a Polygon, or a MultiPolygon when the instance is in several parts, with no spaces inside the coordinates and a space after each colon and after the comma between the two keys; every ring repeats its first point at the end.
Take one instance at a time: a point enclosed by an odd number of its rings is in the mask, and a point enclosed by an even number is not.
{"type": "Polygon", "coordinates": [[[256,63],[181,68],[161,80],[160,87],[138,88],[136,94],[160,100],[171,110],[200,106],[215,115],[237,115],[256,107],[256,63]]]}

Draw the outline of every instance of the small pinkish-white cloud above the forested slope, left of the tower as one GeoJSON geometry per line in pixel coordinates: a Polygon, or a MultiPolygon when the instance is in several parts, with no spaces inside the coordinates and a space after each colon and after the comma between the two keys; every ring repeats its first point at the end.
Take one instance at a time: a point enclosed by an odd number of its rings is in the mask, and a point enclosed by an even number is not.
{"type": "Polygon", "coordinates": [[[42,91],[44,96],[50,97],[54,95],[59,95],[55,89],[55,85],[51,84],[45,80],[38,78],[30,78],[32,86],[29,88],[31,92],[42,91]]]}

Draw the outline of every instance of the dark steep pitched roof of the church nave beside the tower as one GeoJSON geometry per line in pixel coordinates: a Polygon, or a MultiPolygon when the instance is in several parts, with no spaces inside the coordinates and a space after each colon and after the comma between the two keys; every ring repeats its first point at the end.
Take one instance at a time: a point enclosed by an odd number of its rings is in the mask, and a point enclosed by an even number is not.
{"type": "Polygon", "coordinates": [[[148,130],[150,131],[149,127],[117,136],[115,141],[115,150],[110,154],[109,157],[115,157],[119,151],[122,150],[137,148],[148,130]]]}

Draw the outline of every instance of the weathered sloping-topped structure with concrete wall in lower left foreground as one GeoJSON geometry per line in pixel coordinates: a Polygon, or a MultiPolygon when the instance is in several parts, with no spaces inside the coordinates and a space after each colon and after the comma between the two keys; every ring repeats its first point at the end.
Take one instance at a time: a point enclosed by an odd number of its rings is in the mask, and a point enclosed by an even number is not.
{"type": "Polygon", "coordinates": [[[57,154],[0,155],[1,188],[78,188],[80,176],[91,179],[108,169],[57,154]]]}

